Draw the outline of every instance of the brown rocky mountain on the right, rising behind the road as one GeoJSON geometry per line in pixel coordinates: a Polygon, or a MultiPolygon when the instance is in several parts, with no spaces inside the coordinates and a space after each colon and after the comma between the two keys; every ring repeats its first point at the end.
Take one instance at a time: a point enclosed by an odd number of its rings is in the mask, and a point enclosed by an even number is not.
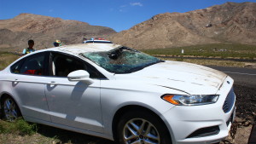
{"type": "Polygon", "coordinates": [[[256,45],[256,3],[224,3],[187,13],[157,14],[110,39],[137,49],[207,43],[256,45]]]}

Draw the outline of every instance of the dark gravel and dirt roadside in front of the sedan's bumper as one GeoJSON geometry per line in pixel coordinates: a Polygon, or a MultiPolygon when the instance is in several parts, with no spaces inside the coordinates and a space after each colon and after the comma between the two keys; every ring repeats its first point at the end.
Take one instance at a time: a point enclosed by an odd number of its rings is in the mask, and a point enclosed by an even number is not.
{"type": "Polygon", "coordinates": [[[253,124],[256,124],[256,88],[235,85],[236,119],[231,129],[236,135],[229,135],[220,144],[247,144],[253,124]]]}

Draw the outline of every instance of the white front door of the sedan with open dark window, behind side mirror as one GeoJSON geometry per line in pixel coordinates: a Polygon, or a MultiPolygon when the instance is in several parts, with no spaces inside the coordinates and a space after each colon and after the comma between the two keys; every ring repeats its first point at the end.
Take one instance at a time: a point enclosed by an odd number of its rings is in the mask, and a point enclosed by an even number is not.
{"type": "Polygon", "coordinates": [[[52,77],[46,85],[45,94],[53,123],[102,132],[100,103],[100,79],[93,84],[70,82],[67,74],[76,70],[87,70],[84,61],[70,55],[53,53],[52,77]]]}

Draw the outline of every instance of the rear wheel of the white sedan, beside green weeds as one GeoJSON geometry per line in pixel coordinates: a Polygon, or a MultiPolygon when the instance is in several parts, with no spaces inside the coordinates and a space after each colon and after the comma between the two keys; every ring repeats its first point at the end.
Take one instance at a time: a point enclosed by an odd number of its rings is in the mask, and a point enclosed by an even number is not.
{"type": "Polygon", "coordinates": [[[5,96],[1,101],[1,108],[3,118],[7,121],[14,122],[17,118],[21,117],[20,109],[15,100],[10,96],[5,96]]]}

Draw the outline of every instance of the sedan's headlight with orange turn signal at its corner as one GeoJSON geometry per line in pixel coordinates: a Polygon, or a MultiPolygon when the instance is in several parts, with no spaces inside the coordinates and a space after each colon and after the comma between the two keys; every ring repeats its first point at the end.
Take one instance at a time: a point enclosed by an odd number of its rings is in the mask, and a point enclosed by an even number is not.
{"type": "Polygon", "coordinates": [[[180,106],[207,105],[218,101],[218,95],[163,95],[161,98],[180,106]]]}

